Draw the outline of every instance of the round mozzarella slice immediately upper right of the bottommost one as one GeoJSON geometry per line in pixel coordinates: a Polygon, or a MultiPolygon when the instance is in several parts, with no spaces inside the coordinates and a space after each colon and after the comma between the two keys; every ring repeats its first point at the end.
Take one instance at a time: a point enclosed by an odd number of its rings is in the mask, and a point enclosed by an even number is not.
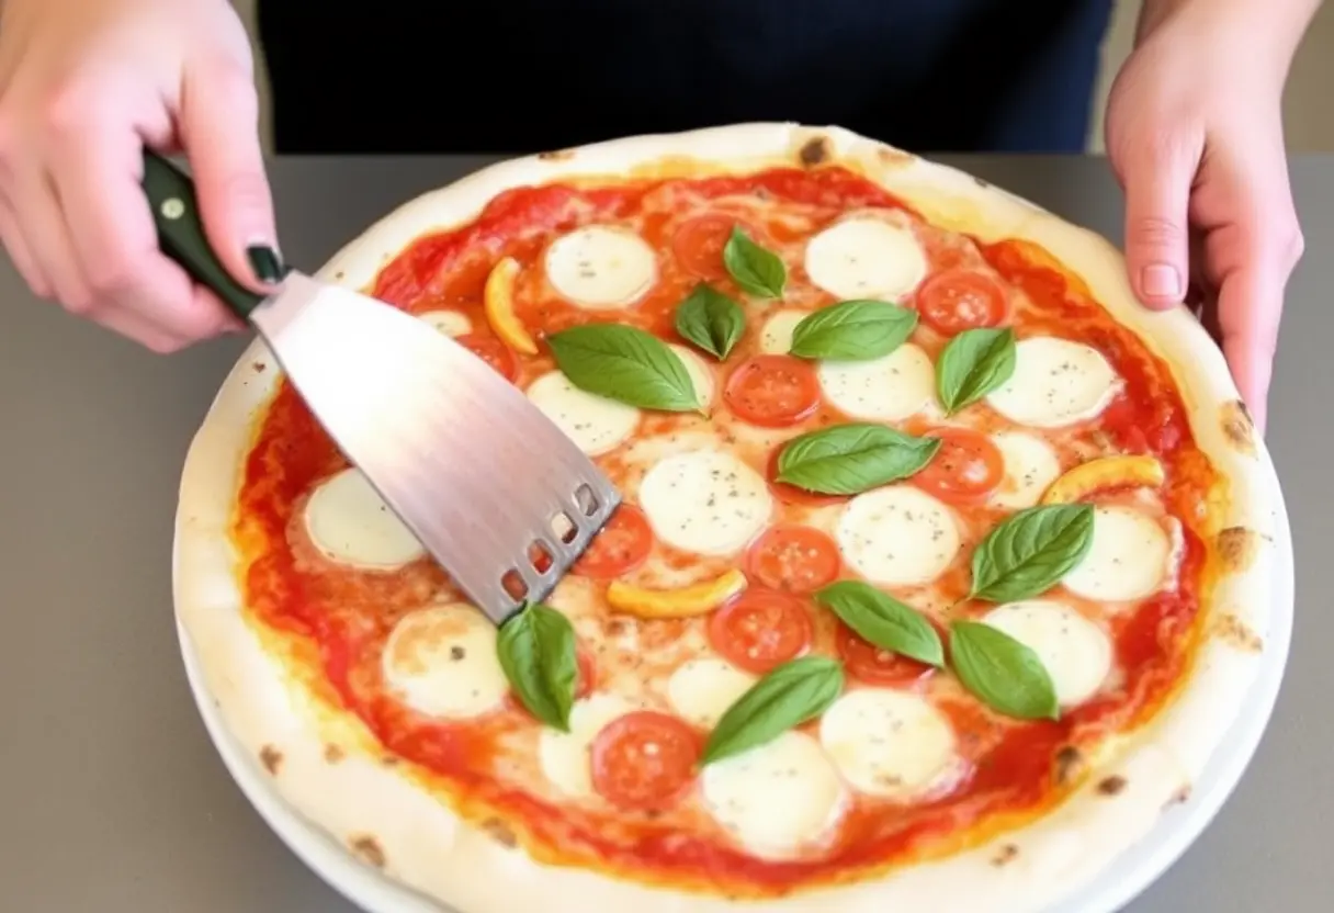
{"type": "Polygon", "coordinates": [[[834,702],[820,742],[843,778],[870,796],[912,798],[958,777],[954,726],[928,701],[863,687],[834,702]]]}

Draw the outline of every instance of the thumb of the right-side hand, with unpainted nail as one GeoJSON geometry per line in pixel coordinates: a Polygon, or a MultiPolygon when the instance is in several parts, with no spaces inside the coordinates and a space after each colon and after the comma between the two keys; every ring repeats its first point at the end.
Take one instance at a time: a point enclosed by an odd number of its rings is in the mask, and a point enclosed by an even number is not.
{"type": "Polygon", "coordinates": [[[1179,304],[1190,275],[1187,212],[1198,156],[1146,148],[1125,168],[1126,264],[1139,300],[1154,310],[1179,304]]]}

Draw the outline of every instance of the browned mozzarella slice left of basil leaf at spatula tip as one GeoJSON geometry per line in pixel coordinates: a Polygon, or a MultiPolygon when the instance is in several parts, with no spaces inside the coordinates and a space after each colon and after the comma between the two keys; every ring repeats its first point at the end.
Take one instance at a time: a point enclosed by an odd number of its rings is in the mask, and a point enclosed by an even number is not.
{"type": "Polygon", "coordinates": [[[510,691],[496,658],[495,625],[462,602],[399,619],[380,667],[390,690],[431,717],[476,717],[500,706],[510,691]]]}

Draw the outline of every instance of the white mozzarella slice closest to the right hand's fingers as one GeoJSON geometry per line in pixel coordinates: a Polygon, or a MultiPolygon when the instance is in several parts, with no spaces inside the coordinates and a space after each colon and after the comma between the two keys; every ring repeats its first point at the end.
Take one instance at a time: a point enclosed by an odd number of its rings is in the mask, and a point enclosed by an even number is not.
{"type": "Polygon", "coordinates": [[[1121,379],[1097,348],[1034,336],[1017,343],[1014,374],[987,402],[1011,422],[1057,428],[1097,416],[1119,390],[1121,379]]]}

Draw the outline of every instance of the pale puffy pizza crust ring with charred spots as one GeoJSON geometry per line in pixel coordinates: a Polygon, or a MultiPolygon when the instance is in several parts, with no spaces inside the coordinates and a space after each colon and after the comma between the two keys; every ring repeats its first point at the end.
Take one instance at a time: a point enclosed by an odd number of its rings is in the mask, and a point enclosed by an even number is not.
{"type": "MultiPolygon", "coordinates": [[[[1265,658],[1275,566],[1275,505],[1263,442],[1241,406],[1217,346],[1185,308],[1150,312],[1129,286],[1122,255],[1101,236],[964,172],[840,128],[740,124],[642,136],[504,162],[426,194],[343,248],[321,278],[370,287],[419,236],[474,219],[498,192],[558,179],[702,175],[834,162],[858,171],[944,226],[984,239],[1031,240],[1079,274],[1122,324],[1159,354],[1179,383],[1199,447],[1229,483],[1218,533],[1226,567],[1206,602],[1205,642],[1182,690],[1158,718],[1103,757],[1061,766],[1081,780],[1058,809],[966,852],[854,885],[751,906],[831,913],[883,909],[1033,910],[1087,884],[1143,837],[1163,809],[1189,796],[1219,749],[1265,658]],[[1247,533],[1245,547],[1235,547],[1247,533]],[[1238,561],[1237,554],[1245,554],[1238,561]],[[1247,635],[1238,635],[1245,631],[1247,635]],[[1110,759],[1107,759],[1110,758],[1110,759]],[[1115,784],[1115,789],[1107,788],[1115,784]]],[[[256,372],[260,342],[224,382],[185,462],[175,543],[175,599],[185,649],[232,738],[288,808],[364,865],[463,913],[538,908],[583,913],[595,905],[638,913],[734,910],[718,896],[618,881],[534,861],[498,822],[462,821],[420,792],[407,765],[386,764],[368,731],[331,719],[267,654],[241,611],[239,555],[229,523],[255,422],[277,371],[256,372]]]]}

